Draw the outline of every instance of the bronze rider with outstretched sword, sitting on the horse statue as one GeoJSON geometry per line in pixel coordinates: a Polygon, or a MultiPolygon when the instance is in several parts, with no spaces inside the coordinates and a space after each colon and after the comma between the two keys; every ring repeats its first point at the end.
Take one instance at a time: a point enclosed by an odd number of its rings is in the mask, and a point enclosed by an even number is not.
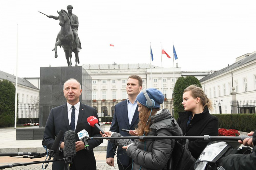
{"type": "MultiPolygon", "coordinates": [[[[72,5],[68,5],[67,6],[67,10],[68,10],[68,16],[69,16],[69,19],[70,19],[70,25],[71,25],[71,29],[73,31],[73,34],[74,34],[74,38],[75,38],[75,44],[76,44],[76,50],[77,51],[80,51],[81,48],[81,43],[80,43],[80,39],[77,35],[77,30],[78,30],[78,17],[75,15],[75,14],[72,14],[72,10],[73,10],[73,6],[72,5]]],[[[59,19],[59,17],[56,17],[56,16],[53,16],[53,15],[49,15],[48,16],[49,18],[53,18],[53,19],[59,19]]],[[[58,41],[58,36],[56,38],[56,42],[58,41]]],[[[55,48],[53,49],[53,51],[55,50],[55,48]]]]}

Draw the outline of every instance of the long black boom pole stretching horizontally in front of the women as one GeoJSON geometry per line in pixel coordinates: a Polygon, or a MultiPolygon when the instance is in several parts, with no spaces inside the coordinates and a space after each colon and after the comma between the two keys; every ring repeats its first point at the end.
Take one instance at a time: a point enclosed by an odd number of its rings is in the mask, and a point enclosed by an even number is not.
{"type": "Polygon", "coordinates": [[[243,141],[247,137],[251,138],[252,136],[120,136],[120,137],[90,137],[89,140],[93,139],[190,139],[190,140],[241,140],[243,141]]]}

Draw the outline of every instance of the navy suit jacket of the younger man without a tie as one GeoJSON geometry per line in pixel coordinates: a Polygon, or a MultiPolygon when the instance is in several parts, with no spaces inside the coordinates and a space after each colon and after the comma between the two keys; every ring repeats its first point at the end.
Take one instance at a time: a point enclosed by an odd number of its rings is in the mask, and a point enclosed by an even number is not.
{"type": "MultiPolygon", "coordinates": [[[[115,105],[115,112],[112,120],[112,124],[110,126],[111,132],[116,132],[121,134],[122,136],[131,136],[127,132],[121,131],[121,129],[127,129],[127,130],[135,130],[135,127],[139,123],[139,112],[138,112],[138,105],[136,108],[136,111],[134,112],[131,124],[129,125],[129,118],[128,118],[128,111],[127,111],[127,99],[119,102],[115,105]]],[[[116,146],[114,146],[114,143],[111,143],[108,141],[108,148],[107,148],[107,154],[106,158],[114,157],[116,151],[116,146]],[[114,149],[114,150],[113,150],[114,149]]],[[[124,166],[128,166],[130,157],[126,154],[122,148],[117,149],[117,164],[122,164],[124,166]]]]}

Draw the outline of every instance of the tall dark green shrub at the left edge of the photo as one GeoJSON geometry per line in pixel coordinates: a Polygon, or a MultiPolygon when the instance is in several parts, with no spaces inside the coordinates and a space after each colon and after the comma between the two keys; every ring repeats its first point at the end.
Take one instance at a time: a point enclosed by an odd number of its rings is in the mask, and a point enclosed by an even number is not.
{"type": "Polygon", "coordinates": [[[0,127],[14,125],[14,113],[15,86],[7,80],[0,80],[0,127]]]}

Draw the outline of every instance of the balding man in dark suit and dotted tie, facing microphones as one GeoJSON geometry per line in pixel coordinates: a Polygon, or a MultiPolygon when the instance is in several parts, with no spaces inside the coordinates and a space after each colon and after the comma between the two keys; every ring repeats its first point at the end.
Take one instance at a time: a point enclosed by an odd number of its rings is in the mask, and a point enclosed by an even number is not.
{"type": "MultiPolygon", "coordinates": [[[[67,80],[63,85],[64,96],[67,99],[67,103],[51,109],[49,117],[46,121],[44,137],[42,145],[50,149],[54,143],[55,136],[59,131],[64,133],[69,130],[73,130],[76,133],[76,156],[73,158],[72,170],[93,169],[96,170],[96,160],[93,153],[93,148],[100,145],[103,140],[88,140],[89,150],[85,150],[85,145],[79,140],[77,136],[76,125],[83,123],[85,130],[89,133],[90,137],[101,137],[99,130],[91,127],[87,118],[95,116],[98,118],[96,109],[85,105],[79,101],[79,96],[82,94],[81,84],[75,79],[67,80]]],[[[54,158],[63,158],[64,149],[64,135],[59,143],[59,150],[57,150],[54,158]]],[[[53,170],[63,170],[65,163],[62,161],[53,162],[53,170]]],[[[67,169],[67,166],[65,167],[67,169]]]]}

